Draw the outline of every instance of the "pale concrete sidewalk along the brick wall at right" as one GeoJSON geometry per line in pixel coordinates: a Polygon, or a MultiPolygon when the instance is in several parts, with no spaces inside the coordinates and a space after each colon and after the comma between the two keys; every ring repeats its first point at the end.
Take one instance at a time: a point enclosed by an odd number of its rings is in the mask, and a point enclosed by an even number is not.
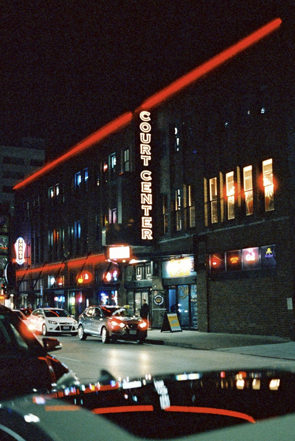
{"type": "Polygon", "coordinates": [[[295,342],[276,336],[200,333],[188,330],[161,333],[160,329],[150,329],[147,331],[146,343],[295,360],[295,342]]]}

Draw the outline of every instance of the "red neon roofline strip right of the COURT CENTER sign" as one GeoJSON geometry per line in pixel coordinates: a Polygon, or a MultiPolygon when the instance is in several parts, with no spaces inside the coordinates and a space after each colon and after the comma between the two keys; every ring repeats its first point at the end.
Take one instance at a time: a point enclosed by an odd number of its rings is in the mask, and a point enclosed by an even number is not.
{"type": "Polygon", "coordinates": [[[253,34],[250,34],[248,37],[243,38],[243,40],[239,41],[235,45],[232,45],[230,48],[225,49],[217,56],[211,58],[211,60],[206,61],[205,63],[201,64],[199,67],[196,67],[193,71],[189,72],[188,74],[184,75],[183,77],[171,83],[170,86],[167,86],[164,89],[162,89],[160,92],[152,95],[150,98],[144,101],[144,103],[140,106],[139,110],[146,108],[150,109],[155,105],[159,105],[160,103],[165,101],[168,97],[171,97],[171,95],[173,95],[174,93],[183,89],[185,86],[188,86],[196,79],[205,75],[207,72],[211,71],[215,67],[220,66],[222,63],[229,60],[237,53],[243,51],[244,49],[247,49],[249,46],[253,45],[261,38],[270,34],[270,32],[272,32],[273,30],[277,29],[280,26],[281,22],[282,22],[281,19],[275,19],[270,23],[268,23],[267,25],[263,26],[262,28],[258,29],[257,31],[253,32],[253,34]]]}

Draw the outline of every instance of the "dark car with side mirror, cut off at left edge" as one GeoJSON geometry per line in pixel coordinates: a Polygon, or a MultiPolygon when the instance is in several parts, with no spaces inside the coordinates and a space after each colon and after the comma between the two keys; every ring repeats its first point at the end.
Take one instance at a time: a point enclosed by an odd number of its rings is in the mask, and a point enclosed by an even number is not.
{"type": "Polygon", "coordinates": [[[51,391],[68,368],[48,352],[62,345],[43,338],[43,346],[18,315],[0,305],[0,397],[51,391]]]}

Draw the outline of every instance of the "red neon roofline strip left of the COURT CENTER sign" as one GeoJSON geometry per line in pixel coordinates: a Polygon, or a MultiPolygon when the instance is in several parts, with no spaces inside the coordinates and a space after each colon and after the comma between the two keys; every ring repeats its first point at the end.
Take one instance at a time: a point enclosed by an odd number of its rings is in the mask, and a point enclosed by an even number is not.
{"type": "Polygon", "coordinates": [[[51,168],[65,161],[67,158],[74,156],[77,153],[80,153],[82,150],[87,149],[96,142],[102,141],[102,139],[105,138],[107,135],[111,135],[111,133],[114,133],[114,131],[128,124],[132,120],[132,118],[133,116],[131,112],[124,113],[122,116],[119,116],[116,120],[111,121],[111,123],[108,123],[98,131],[92,133],[92,135],[89,135],[83,141],[79,142],[75,147],[70,149],[69,152],[55,159],[55,161],[49,162],[49,164],[45,165],[43,168],[41,168],[41,170],[38,170],[36,173],[33,173],[33,175],[24,179],[22,182],[16,184],[13,187],[13,189],[17,190],[18,188],[23,187],[28,182],[32,181],[33,179],[36,179],[40,175],[43,175],[43,173],[47,172],[51,168]]]}

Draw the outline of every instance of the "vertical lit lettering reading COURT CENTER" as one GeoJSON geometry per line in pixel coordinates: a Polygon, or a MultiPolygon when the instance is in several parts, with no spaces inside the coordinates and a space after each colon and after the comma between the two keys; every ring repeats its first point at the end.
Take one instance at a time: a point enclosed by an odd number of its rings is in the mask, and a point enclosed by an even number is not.
{"type": "MultiPolygon", "coordinates": [[[[150,112],[140,112],[140,159],[143,161],[142,167],[149,167],[149,161],[151,161],[151,121],[150,112]]],[[[152,209],[152,193],[151,193],[151,171],[144,168],[140,173],[140,203],[143,210],[143,216],[141,217],[141,239],[151,240],[153,239],[152,232],[152,218],[150,211],[152,209]]]]}

